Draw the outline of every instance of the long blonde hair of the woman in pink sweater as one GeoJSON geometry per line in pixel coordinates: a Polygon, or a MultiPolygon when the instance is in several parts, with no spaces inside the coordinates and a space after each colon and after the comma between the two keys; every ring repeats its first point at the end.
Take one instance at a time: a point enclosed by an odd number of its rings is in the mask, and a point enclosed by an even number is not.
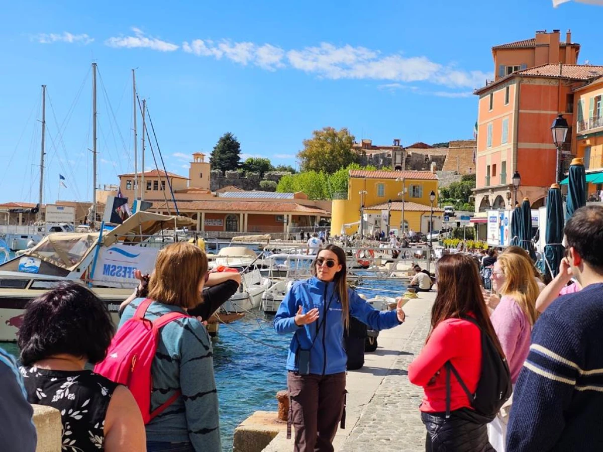
{"type": "Polygon", "coordinates": [[[539,314],[536,310],[539,290],[532,272],[532,261],[521,254],[502,253],[496,262],[506,278],[499,292],[514,298],[530,324],[534,325],[539,314]]]}

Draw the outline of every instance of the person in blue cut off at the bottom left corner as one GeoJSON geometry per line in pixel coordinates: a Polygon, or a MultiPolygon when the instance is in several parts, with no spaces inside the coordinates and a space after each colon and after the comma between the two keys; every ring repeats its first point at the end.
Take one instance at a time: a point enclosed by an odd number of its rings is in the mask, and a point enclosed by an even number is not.
{"type": "Polygon", "coordinates": [[[0,441],[2,452],[35,452],[36,427],[23,377],[14,358],[0,348],[0,441]]]}

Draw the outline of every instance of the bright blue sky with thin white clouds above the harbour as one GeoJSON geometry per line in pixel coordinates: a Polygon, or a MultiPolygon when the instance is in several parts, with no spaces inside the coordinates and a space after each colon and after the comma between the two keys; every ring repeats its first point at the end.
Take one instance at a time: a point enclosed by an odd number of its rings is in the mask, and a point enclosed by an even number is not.
{"type": "Polygon", "coordinates": [[[585,20],[601,13],[551,0],[10,2],[0,27],[0,202],[37,199],[41,84],[45,202],[57,199],[58,174],[61,199],[91,198],[93,60],[98,183],[114,184],[134,168],[133,68],[168,171],[187,174],[188,156],[209,154],[226,131],[243,157],[295,165],[303,139],[324,126],[377,144],[470,138],[471,93],[493,73],[491,46],[570,28],[580,62],[603,63],[600,32],[585,20]]]}

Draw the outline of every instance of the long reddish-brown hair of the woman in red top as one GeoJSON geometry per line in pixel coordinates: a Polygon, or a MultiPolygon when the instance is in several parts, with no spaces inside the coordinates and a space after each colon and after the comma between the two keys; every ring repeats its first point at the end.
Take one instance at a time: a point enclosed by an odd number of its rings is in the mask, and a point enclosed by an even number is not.
{"type": "Polygon", "coordinates": [[[431,309],[431,336],[434,328],[440,322],[451,318],[475,316],[479,327],[496,346],[501,357],[505,354],[490,322],[490,315],[484,302],[481,286],[479,285],[478,266],[475,261],[464,254],[445,254],[436,264],[438,280],[438,295],[431,309]]]}

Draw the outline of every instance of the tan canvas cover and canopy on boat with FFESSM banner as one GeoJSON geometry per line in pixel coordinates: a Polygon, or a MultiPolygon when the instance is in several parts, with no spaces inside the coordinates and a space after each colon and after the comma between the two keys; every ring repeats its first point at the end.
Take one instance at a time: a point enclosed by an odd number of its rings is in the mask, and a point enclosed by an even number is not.
{"type": "MultiPolygon", "coordinates": [[[[140,243],[165,228],[181,228],[196,224],[190,218],[160,215],[153,212],[136,212],[112,231],[103,233],[102,246],[116,242],[140,243]]],[[[75,271],[95,249],[98,232],[55,233],[44,237],[23,256],[37,257],[69,271],[75,271]]]]}

